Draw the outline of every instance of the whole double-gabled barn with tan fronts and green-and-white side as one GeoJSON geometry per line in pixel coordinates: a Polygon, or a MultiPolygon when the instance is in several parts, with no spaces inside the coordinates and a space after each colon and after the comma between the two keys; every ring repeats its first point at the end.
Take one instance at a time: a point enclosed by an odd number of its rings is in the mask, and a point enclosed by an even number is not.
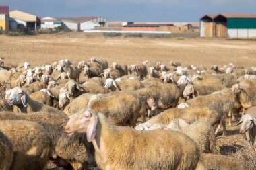
{"type": "Polygon", "coordinates": [[[256,37],[256,14],[204,15],[200,19],[200,36],[216,38],[256,37]]]}

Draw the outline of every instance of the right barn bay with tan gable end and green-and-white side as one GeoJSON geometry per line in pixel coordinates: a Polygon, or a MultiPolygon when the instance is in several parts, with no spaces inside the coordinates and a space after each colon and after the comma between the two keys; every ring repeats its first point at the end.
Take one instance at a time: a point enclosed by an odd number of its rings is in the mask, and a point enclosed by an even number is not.
{"type": "Polygon", "coordinates": [[[256,14],[220,14],[215,17],[216,37],[256,37],[256,14]]]}

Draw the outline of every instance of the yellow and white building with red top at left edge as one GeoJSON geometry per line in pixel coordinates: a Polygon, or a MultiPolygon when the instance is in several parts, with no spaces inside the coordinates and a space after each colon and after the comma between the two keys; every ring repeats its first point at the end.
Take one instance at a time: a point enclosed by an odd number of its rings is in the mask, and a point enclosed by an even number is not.
{"type": "Polygon", "coordinates": [[[9,7],[0,6],[0,31],[9,31],[9,7]]]}

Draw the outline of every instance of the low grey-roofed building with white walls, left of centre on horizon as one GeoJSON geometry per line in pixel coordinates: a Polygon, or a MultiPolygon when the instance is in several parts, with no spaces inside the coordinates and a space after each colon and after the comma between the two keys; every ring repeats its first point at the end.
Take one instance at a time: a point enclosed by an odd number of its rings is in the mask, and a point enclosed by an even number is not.
{"type": "Polygon", "coordinates": [[[59,19],[63,22],[64,30],[92,30],[95,27],[108,26],[108,19],[104,17],[61,17],[59,19]]]}

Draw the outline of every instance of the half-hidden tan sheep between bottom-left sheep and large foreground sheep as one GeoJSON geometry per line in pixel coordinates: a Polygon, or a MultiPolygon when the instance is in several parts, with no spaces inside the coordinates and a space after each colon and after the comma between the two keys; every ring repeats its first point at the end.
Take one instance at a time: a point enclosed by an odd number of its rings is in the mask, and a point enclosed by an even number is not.
{"type": "Polygon", "coordinates": [[[26,120],[41,124],[53,143],[58,157],[57,159],[67,161],[74,169],[79,169],[79,167],[82,166],[81,163],[75,159],[75,154],[79,150],[82,136],[75,134],[69,137],[65,134],[64,126],[69,120],[65,114],[59,115],[48,112],[15,114],[12,112],[0,112],[0,120],[26,120]]]}

